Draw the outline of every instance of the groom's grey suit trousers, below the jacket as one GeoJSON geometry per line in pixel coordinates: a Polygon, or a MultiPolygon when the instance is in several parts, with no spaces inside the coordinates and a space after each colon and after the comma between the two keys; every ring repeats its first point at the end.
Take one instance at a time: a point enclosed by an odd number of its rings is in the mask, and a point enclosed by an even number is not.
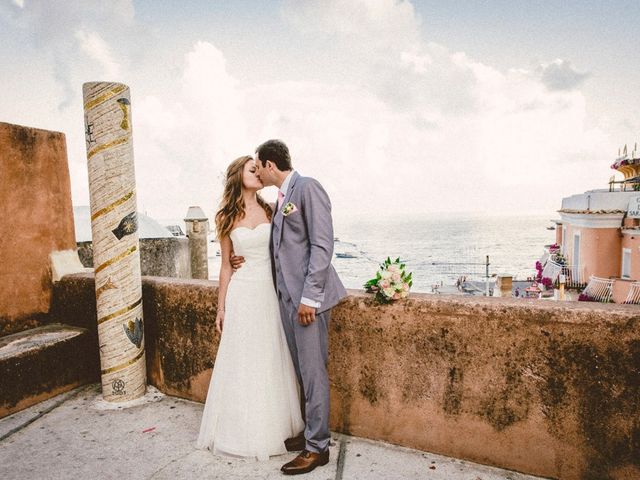
{"type": "Polygon", "coordinates": [[[316,315],[307,326],[298,321],[298,305],[280,300],[280,315],[291,358],[304,392],[306,449],[329,448],[329,374],[327,371],[331,310],[316,315]]]}

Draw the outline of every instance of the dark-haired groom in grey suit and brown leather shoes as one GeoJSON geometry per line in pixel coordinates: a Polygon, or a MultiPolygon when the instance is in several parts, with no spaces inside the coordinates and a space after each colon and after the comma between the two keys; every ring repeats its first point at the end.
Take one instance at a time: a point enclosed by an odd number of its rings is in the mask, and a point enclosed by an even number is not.
{"type": "Polygon", "coordinates": [[[302,452],[282,467],[286,475],[329,462],[327,344],[331,308],[347,292],[331,265],[331,202],[320,183],[293,170],[289,149],[268,140],[256,149],[256,175],[278,187],[271,223],[271,266],[280,315],[304,392],[304,432],[285,442],[302,452]],[[303,435],[304,434],[304,435],[303,435]]]}

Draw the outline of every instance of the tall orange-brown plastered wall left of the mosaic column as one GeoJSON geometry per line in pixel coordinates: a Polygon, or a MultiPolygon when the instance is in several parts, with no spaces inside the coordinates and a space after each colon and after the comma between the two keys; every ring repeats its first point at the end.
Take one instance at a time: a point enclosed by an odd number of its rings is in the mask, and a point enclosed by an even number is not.
{"type": "Polygon", "coordinates": [[[65,136],[0,123],[0,336],[39,324],[49,254],[75,249],[65,136]]]}

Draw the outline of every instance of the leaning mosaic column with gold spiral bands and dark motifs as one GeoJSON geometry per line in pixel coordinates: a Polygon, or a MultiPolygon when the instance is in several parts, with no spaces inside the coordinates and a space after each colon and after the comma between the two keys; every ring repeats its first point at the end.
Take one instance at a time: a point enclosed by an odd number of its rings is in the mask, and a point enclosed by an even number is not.
{"type": "Polygon", "coordinates": [[[84,96],[102,396],[146,391],[142,283],[129,87],[92,82],[84,96]]]}

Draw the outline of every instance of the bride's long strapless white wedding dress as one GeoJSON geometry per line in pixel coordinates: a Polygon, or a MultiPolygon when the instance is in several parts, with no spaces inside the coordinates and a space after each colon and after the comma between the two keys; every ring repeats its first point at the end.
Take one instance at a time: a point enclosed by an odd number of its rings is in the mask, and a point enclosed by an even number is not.
{"type": "Polygon", "coordinates": [[[236,227],[245,263],[232,276],[222,338],[204,406],[198,448],[266,460],[304,429],[291,354],[271,276],[270,224],[236,227]]]}

